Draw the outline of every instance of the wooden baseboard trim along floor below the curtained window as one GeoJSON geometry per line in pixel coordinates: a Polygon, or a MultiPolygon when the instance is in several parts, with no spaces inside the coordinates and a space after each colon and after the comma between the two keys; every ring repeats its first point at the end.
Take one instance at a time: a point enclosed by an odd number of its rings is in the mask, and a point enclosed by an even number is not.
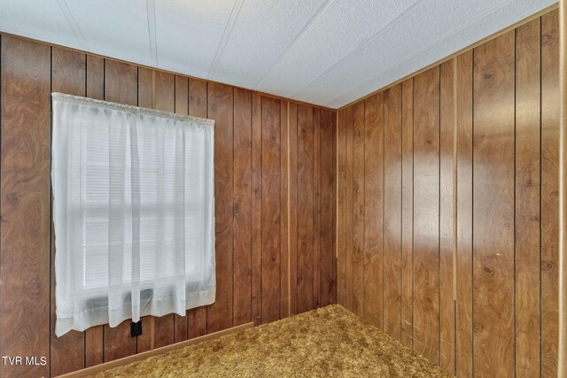
{"type": "Polygon", "coordinates": [[[142,359],[147,359],[152,356],[157,356],[158,354],[165,353],[167,351],[175,351],[177,349],[182,349],[186,346],[193,345],[195,343],[201,343],[207,340],[214,340],[221,336],[234,334],[236,332],[244,331],[245,329],[254,327],[254,323],[246,323],[237,327],[223,329],[219,332],[214,332],[205,336],[195,337],[190,340],[183,341],[181,343],[172,343],[170,345],[162,346],[161,348],[153,349],[151,351],[143,351],[142,353],[133,354],[132,356],[124,357],[122,359],[114,359],[113,361],[105,362],[104,364],[90,366],[81,370],[76,370],[72,373],[67,373],[63,375],[58,375],[60,378],[75,378],[84,377],[87,375],[95,375],[108,369],[112,369],[118,366],[125,366],[131,364],[132,362],[137,362],[142,359]]]}

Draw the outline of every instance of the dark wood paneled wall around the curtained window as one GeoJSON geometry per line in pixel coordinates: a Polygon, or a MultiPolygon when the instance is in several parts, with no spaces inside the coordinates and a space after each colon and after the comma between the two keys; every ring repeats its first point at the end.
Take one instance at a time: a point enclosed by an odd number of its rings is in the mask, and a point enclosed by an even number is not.
{"type": "Polygon", "coordinates": [[[1,376],[53,376],[335,303],[335,112],[12,36],[0,38],[1,376]],[[50,92],[215,120],[217,295],[186,316],[54,335],[50,92]]]}

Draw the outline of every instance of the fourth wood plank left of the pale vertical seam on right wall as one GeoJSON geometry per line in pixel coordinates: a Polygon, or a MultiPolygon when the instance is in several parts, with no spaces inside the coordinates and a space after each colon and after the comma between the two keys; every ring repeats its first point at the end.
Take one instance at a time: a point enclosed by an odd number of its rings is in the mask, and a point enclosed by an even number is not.
{"type": "Polygon", "coordinates": [[[401,341],[401,84],[384,91],[384,332],[401,341]]]}

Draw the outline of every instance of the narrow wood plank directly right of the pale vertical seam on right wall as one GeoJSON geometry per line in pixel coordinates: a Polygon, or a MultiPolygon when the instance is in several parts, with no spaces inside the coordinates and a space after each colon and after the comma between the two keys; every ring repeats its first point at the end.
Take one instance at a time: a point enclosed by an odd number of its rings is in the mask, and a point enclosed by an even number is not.
{"type": "Polygon", "coordinates": [[[472,348],[472,58],[457,57],[456,374],[471,376],[472,348]]]}

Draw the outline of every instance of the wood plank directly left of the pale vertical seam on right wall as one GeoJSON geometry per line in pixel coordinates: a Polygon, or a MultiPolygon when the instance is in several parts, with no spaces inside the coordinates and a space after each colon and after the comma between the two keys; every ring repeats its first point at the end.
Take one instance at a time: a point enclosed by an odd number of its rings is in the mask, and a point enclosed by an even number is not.
{"type": "Polygon", "coordinates": [[[439,365],[454,374],[454,59],[440,66],[439,365]]]}

